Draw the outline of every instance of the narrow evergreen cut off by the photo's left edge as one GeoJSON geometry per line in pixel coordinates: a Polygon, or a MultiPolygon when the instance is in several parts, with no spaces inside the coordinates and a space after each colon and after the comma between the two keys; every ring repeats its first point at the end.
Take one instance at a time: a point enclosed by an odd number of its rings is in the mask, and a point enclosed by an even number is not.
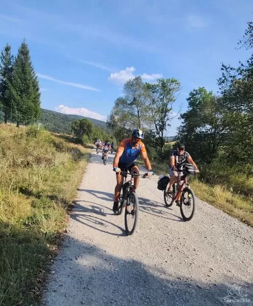
{"type": "MultiPolygon", "coordinates": [[[[5,107],[11,108],[10,100],[7,96],[7,82],[12,78],[13,55],[11,54],[11,46],[7,43],[0,56],[0,99],[5,107]]],[[[5,122],[7,122],[7,114],[5,112],[5,122]]]]}

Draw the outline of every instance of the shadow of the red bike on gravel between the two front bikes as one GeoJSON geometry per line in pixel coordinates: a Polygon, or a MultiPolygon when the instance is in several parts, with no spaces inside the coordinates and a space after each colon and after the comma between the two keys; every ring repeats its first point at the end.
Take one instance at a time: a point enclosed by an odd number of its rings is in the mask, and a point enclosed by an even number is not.
{"type": "Polygon", "coordinates": [[[177,215],[172,214],[171,212],[168,211],[168,209],[171,211],[171,208],[166,208],[166,206],[162,203],[146,199],[143,197],[138,197],[139,199],[139,210],[142,212],[145,212],[147,214],[160,217],[163,219],[168,219],[172,221],[178,221],[178,222],[184,222],[183,218],[177,215]],[[160,205],[158,205],[160,204],[160,205]],[[160,209],[158,209],[160,208],[160,209]],[[166,211],[162,210],[161,208],[165,208],[166,211]],[[170,216],[175,217],[175,218],[170,218],[170,216]]]}

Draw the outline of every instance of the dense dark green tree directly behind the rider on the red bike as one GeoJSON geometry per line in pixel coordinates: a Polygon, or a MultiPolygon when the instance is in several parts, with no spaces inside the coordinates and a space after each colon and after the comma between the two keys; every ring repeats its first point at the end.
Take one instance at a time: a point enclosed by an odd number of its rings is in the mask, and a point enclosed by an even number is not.
{"type": "Polygon", "coordinates": [[[227,139],[222,98],[199,87],[190,92],[188,111],[181,115],[179,139],[184,142],[194,159],[209,165],[217,157],[227,139]]]}

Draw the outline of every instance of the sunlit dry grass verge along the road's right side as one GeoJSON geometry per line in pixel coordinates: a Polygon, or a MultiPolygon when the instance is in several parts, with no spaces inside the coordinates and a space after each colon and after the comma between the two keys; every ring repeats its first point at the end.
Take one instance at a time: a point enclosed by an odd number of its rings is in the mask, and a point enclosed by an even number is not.
{"type": "MultiPolygon", "coordinates": [[[[142,160],[138,160],[140,165],[144,165],[142,160]]],[[[167,174],[167,163],[151,162],[154,172],[158,175],[167,174]]],[[[247,182],[249,184],[249,181],[247,182]]],[[[243,196],[228,190],[223,185],[208,185],[193,179],[190,182],[194,193],[201,200],[207,201],[223,212],[239,219],[240,221],[253,226],[253,198],[243,196]]],[[[248,187],[247,187],[248,188],[248,187]]],[[[252,186],[251,186],[252,188],[252,186]]]]}

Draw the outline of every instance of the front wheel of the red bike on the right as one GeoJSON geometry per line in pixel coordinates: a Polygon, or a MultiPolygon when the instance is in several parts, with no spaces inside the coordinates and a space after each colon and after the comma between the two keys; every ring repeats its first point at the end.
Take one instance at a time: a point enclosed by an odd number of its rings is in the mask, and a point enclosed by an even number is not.
{"type": "Polygon", "coordinates": [[[184,188],[181,201],[180,201],[180,212],[182,218],[185,221],[190,221],[194,215],[195,211],[195,195],[190,188],[184,188]]]}

